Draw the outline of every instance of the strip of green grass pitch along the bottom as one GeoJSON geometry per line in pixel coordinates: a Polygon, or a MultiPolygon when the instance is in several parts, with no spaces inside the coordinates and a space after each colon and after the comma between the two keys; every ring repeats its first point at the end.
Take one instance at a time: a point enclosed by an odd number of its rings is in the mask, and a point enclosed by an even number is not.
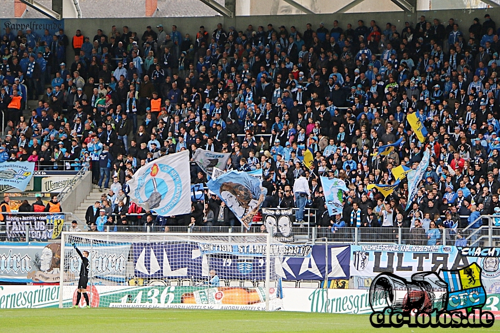
{"type": "MultiPolygon", "coordinates": [[[[367,333],[379,331],[430,332],[432,328],[371,327],[368,315],[304,312],[260,312],[185,309],[121,308],[39,308],[1,309],[0,332],[85,332],[85,333],[367,333]]],[[[455,329],[439,329],[455,331],[455,329]]],[[[463,328],[462,328],[463,329],[463,328]]],[[[466,332],[500,331],[500,322],[491,328],[465,328],[466,332]]]]}

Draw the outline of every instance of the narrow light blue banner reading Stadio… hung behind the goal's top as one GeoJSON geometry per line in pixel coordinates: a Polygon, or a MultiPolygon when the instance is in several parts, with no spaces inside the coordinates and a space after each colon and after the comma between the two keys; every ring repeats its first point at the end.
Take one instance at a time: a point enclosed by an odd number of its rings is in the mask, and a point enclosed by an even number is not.
{"type": "MultiPolygon", "coordinates": [[[[233,255],[248,255],[248,256],[264,256],[265,244],[239,244],[239,245],[225,245],[225,244],[208,244],[198,243],[201,254],[233,254],[233,255]]],[[[312,252],[312,245],[285,245],[285,244],[271,244],[270,255],[284,256],[284,257],[310,257],[312,252]]]]}

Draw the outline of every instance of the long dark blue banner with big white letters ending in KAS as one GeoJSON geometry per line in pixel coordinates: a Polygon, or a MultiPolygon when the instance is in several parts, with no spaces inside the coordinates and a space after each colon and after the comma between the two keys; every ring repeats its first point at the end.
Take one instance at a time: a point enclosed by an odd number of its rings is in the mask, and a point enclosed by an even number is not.
{"type": "MultiPolygon", "coordinates": [[[[265,278],[265,244],[133,243],[136,277],[203,279],[215,270],[221,279],[265,278]]],[[[283,279],[324,280],[324,245],[272,244],[271,273],[283,279]]],[[[349,245],[328,245],[327,276],[349,278],[349,245]]]]}

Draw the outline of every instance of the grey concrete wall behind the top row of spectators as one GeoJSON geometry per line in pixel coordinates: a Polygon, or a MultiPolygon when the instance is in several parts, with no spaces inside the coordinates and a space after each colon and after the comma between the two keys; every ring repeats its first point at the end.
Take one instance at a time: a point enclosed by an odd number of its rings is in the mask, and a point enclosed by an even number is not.
{"type": "MultiPolygon", "coordinates": [[[[313,28],[316,29],[320,21],[325,23],[325,26],[329,29],[333,25],[333,21],[336,19],[342,28],[345,28],[347,23],[351,23],[355,28],[357,26],[357,20],[362,19],[365,24],[368,24],[371,19],[375,19],[377,24],[381,27],[385,27],[385,23],[391,22],[395,24],[398,31],[404,26],[404,22],[408,21],[412,26],[418,21],[420,15],[425,15],[427,20],[432,20],[433,18],[438,18],[443,21],[445,25],[450,17],[458,22],[460,29],[462,31],[467,31],[474,17],[478,17],[481,22],[484,21],[484,14],[489,13],[493,20],[500,24],[500,8],[487,8],[487,9],[474,9],[469,12],[468,9],[453,9],[453,10],[427,10],[427,11],[417,11],[415,13],[405,12],[405,11],[392,11],[392,12],[376,12],[376,13],[343,13],[343,14],[316,14],[316,15],[262,15],[262,16],[236,16],[234,18],[229,17],[143,17],[143,18],[67,18],[64,20],[64,28],[66,34],[71,40],[76,29],[80,29],[84,35],[89,35],[93,37],[97,29],[100,28],[104,33],[108,34],[111,30],[112,25],[116,25],[119,30],[121,26],[128,25],[131,31],[136,31],[139,37],[142,35],[145,27],[151,25],[156,29],[157,24],[163,24],[167,32],[171,31],[171,25],[177,25],[177,29],[182,33],[189,33],[191,39],[194,39],[198,27],[200,25],[205,26],[205,30],[211,32],[215,29],[217,23],[221,22],[225,29],[233,25],[238,30],[245,30],[248,24],[252,24],[254,27],[258,25],[263,25],[264,28],[268,23],[272,23],[277,29],[278,26],[284,25],[288,28],[291,25],[295,25],[299,31],[305,30],[305,24],[311,23],[313,28]]],[[[73,61],[71,52],[68,52],[69,58],[67,61],[71,63],[73,61]]]]}

